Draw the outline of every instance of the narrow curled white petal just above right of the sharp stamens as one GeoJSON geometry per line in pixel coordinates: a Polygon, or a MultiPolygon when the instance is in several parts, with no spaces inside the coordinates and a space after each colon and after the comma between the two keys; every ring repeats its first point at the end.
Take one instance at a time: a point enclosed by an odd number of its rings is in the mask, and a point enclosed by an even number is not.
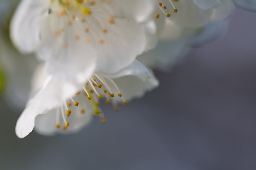
{"type": "Polygon", "coordinates": [[[124,76],[136,76],[143,81],[151,78],[151,73],[148,69],[141,64],[138,60],[135,60],[131,65],[113,74],[100,73],[104,77],[108,78],[120,78],[124,76]]]}

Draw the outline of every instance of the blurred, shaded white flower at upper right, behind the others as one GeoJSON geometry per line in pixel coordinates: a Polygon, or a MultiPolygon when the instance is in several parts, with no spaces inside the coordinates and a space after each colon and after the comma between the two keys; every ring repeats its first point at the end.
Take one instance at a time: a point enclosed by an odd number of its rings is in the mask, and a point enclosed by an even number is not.
{"type": "Polygon", "coordinates": [[[169,70],[186,53],[188,46],[203,45],[218,37],[226,27],[222,21],[234,9],[232,0],[174,1],[171,5],[161,1],[156,12],[156,22],[164,22],[164,26],[157,24],[160,43],[138,60],[150,68],[169,70]]]}

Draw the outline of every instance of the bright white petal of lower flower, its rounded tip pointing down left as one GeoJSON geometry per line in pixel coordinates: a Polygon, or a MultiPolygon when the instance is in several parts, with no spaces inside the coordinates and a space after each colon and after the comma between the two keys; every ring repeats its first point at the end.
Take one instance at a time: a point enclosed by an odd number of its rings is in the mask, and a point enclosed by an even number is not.
{"type": "Polygon", "coordinates": [[[37,115],[46,114],[52,107],[58,107],[77,92],[78,87],[60,81],[60,79],[48,76],[45,79],[44,87],[29,100],[27,107],[20,115],[16,124],[16,134],[23,138],[27,136],[35,126],[37,115]]]}

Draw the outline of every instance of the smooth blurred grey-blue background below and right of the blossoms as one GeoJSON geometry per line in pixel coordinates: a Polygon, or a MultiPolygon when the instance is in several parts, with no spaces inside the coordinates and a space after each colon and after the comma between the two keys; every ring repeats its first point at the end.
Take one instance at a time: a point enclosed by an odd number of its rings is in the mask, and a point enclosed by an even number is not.
{"type": "Polygon", "coordinates": [[[78,134],[15,135],[21,111],[0,101],[0,169],[256,169],[256,13],[191,48],[160,87],[78,134]]]}

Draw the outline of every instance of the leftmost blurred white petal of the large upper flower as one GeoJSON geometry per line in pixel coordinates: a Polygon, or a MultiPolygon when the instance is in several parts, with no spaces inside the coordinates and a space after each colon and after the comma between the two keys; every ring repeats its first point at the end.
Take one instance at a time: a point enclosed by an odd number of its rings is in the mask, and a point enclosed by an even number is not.
{"type": "Polygon", "coordinates": [[[34,52],[40,42],[40,21],[47,14],[50,1],[22,0],[11,22],[11,38],[23,53],[34,52]]]}

